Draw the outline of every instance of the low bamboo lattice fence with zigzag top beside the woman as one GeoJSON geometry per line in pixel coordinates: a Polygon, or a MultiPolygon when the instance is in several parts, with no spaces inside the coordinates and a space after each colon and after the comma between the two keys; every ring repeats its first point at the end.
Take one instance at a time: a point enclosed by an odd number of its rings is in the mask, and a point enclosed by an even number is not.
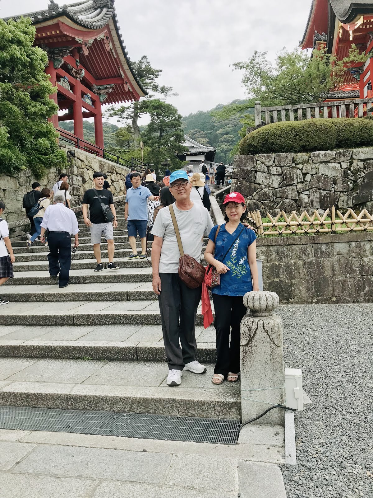
{"type": "Polygon", "coordinates": [[[310,216],[307,211],[303,211],[299,216],[295,211],[292,211],[290,216],[287,216],[284,211],[281,211],[275,218],[267,213],[267,218],[270,220],[268,223],[263,223],[260,211],[249,211],[248,216],[255,221],[258,235],[260,236],[373,231],[373,215],[369,214],[366,209],[363,209],[363,211],[357,215],[355,211],[350,208],[343,215],[339,210],[336,211],[333,206],[330,215],[329,213],[329,208],[322,216],[316,210],[312,216],[310,216]],[[329,219],[327,219],[328,215],[329,219]]]}

